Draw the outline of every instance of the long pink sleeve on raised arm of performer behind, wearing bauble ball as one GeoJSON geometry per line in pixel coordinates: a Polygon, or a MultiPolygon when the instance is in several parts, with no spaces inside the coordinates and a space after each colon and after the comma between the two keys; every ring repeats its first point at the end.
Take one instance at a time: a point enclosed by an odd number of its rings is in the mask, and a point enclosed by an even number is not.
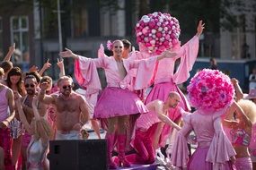
{"type": "Polygon", "coordinates": [[[187,81],[190,77],[190,71],[195,63],[199,53],[199,37],[194,36],[181,47],[181,51],[178,55],[181,57],[181,64],[179,65],[177,72],[174,73],[172,80],[176,84],[181,84],[187,81]]]}

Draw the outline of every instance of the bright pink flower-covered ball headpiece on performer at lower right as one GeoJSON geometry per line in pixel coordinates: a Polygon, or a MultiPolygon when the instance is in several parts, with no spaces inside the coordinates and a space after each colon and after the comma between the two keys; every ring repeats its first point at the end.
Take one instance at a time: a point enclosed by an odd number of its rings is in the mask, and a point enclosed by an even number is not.
{"type": "Polygon", "coordinates": [[[205,111],[225,108],[234,98],[234,86],[229,77],[210,69],[198,72],[191,79],[188,92],[190,104],[205,111]]]}

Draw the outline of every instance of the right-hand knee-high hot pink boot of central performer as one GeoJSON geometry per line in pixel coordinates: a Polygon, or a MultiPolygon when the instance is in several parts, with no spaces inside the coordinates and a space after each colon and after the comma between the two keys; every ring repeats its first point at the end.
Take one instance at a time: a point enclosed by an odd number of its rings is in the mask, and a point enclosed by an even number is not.
{"type": "Polygon", "coordinates": [[[119,166],[130,167],[128,160],[125,157],[125,148],[126,148],[126,135],[118,135],[118,146],[119,146],[119,166]]]}

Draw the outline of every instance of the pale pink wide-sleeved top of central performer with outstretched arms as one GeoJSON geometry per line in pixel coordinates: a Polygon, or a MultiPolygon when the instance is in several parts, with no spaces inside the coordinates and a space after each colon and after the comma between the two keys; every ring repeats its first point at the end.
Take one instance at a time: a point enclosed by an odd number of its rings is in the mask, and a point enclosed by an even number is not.
{"type": "Polygon", "coordinates": [[[101,45],[98,51],[98,58],[86,58],[78,56],[75,60],[75,78],[78,83],[87,89],[87,94],[98,92],[101,87],[100,79],[96,68],[102,67],[105,70],[108,87],[118,87],[121,89],[130,89],[129,71],[137,68],[135,89],[144,89],[147,87],[153,72],[157,57],[151,57],[143,60],[123,59],[123,64],[127,73],[124,79],[119,74],[118,65],[113,56],[104,54],[104,48],[101,45]]]}

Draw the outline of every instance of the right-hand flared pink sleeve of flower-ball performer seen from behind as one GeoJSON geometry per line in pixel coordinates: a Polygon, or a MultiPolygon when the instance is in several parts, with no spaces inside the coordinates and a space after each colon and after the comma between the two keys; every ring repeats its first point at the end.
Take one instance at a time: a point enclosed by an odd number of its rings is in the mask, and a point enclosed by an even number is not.
{"type": "Polygon", "coordinates": [[[221,124],[221,117],[214,120],[215,136],[207,152],[207,161],[213,163],[214,169],[222,169],[225,162],[230,160],[236,153],[228,140],[221,124]]]}

